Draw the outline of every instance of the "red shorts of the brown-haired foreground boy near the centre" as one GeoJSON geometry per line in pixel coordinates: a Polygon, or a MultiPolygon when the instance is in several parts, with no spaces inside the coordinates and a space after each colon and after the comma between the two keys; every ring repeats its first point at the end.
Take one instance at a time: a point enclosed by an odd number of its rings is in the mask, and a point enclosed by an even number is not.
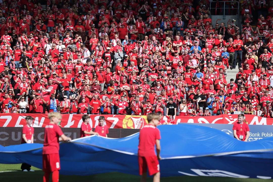
{"type": "Polygon", "coordinates": [[[160,171],[159,162],[156,156],[146,156],[146,157],[138,156],[138,166],[139,166],[140,175],[147,172],[147,167],[149,169],[150,176],[160,171]]]}

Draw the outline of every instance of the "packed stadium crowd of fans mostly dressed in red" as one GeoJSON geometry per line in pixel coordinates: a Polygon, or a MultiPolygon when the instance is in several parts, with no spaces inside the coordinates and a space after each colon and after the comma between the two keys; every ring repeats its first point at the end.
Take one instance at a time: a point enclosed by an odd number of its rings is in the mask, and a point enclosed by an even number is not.
{"type": "Polygon", "coordinates": [[[272,117],[272,1],[240,3],[2,1],[1,112],[272,117]]]}

